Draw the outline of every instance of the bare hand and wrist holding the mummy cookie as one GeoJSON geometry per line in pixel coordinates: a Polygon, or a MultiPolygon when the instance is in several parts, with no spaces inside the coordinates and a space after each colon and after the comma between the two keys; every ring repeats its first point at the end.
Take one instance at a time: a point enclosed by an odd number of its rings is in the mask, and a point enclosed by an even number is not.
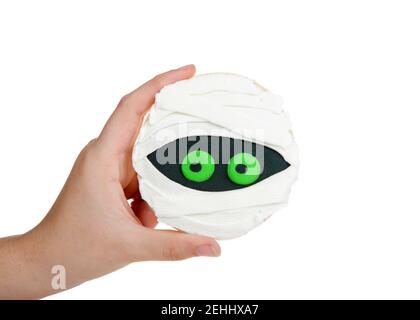
{"type": "Polygon", "coordinates": [[[156,230],[142,200],[131,152],[154,96],[188,79],[188,65],[154,77],[124,96],[99,137],[80,152],[45,218],[25,234],[0,239],[0,298],[38,299],[54,293],[54,265],[66,270],[67,289],[132,262],[219,256],[208,237],[156,230]]]}

